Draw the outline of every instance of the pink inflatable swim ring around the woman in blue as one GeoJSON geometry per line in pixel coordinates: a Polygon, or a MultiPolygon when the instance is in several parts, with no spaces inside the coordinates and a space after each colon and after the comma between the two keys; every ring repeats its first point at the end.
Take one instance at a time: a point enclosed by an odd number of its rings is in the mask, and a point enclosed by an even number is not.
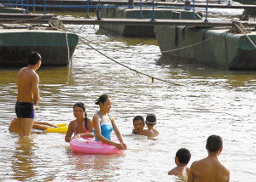
{"type": "Polygon", "coordinates": [[[117,149],[113,145],[104,144],[94,138],[76,138],[69,142],[73,151],[85,154],[120,154],[123,150],[117,149]]]}

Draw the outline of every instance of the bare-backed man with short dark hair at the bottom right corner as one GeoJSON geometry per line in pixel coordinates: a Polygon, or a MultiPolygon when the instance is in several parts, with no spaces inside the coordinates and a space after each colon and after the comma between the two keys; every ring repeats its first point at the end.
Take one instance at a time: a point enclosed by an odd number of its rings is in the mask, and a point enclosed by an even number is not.
{"type": "Polygon", "coordinates": [[[223,149],[222,138],[218,135],[211,135],[207,139],[208,156],[200,161],[193,162],[188,182],[226,182],[230,181],[230,169],[219,162],[218,156],[223,149]]]}

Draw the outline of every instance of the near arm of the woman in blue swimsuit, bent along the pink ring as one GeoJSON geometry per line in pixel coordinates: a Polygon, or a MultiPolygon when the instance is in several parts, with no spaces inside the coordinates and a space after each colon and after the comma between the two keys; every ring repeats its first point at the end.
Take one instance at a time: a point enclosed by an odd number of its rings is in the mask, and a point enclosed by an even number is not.
{"type": "Polygon", "coordinates": [[[106,139],[105,137],[102,136],[101,120],[99,117],[94,116],[92,119],[92,122],[94,123],[96,139],[102,141],[105,144],[114,145],[119,150],[124,149],[124,146],[122,144],[115,143],[115,142],[113,142],[109,139],[106,139]]]}

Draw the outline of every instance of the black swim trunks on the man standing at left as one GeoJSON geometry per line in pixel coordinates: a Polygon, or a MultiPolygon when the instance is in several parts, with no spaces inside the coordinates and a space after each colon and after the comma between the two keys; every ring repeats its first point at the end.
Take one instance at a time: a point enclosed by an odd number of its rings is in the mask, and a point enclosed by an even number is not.
{"type": "Polygon", "coordinates": [[[31,102],[16,102],[15,112],[17,117],[22,118],[35,118],[34,104],[31,102]]]}

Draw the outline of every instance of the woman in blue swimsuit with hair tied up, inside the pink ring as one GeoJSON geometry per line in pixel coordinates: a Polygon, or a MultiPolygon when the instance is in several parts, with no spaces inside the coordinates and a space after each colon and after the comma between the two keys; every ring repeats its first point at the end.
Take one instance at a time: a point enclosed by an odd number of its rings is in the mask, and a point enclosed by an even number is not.
{"type": "Polygon", "coordinates": [[[96,140],[103,143],[114,145],[119,150],[126,149],[122,134],[119,133],[119,128],[114,122],[112,114],[109,111],[112,107],[112,100],[108,94],[102,94],[96,101],[96,105],[100,105],[101,109],[92,118],[92,128],[96,140]],[[110,138],[110,133],[114,131],[120,143],[113,142],[110,138]]]}

